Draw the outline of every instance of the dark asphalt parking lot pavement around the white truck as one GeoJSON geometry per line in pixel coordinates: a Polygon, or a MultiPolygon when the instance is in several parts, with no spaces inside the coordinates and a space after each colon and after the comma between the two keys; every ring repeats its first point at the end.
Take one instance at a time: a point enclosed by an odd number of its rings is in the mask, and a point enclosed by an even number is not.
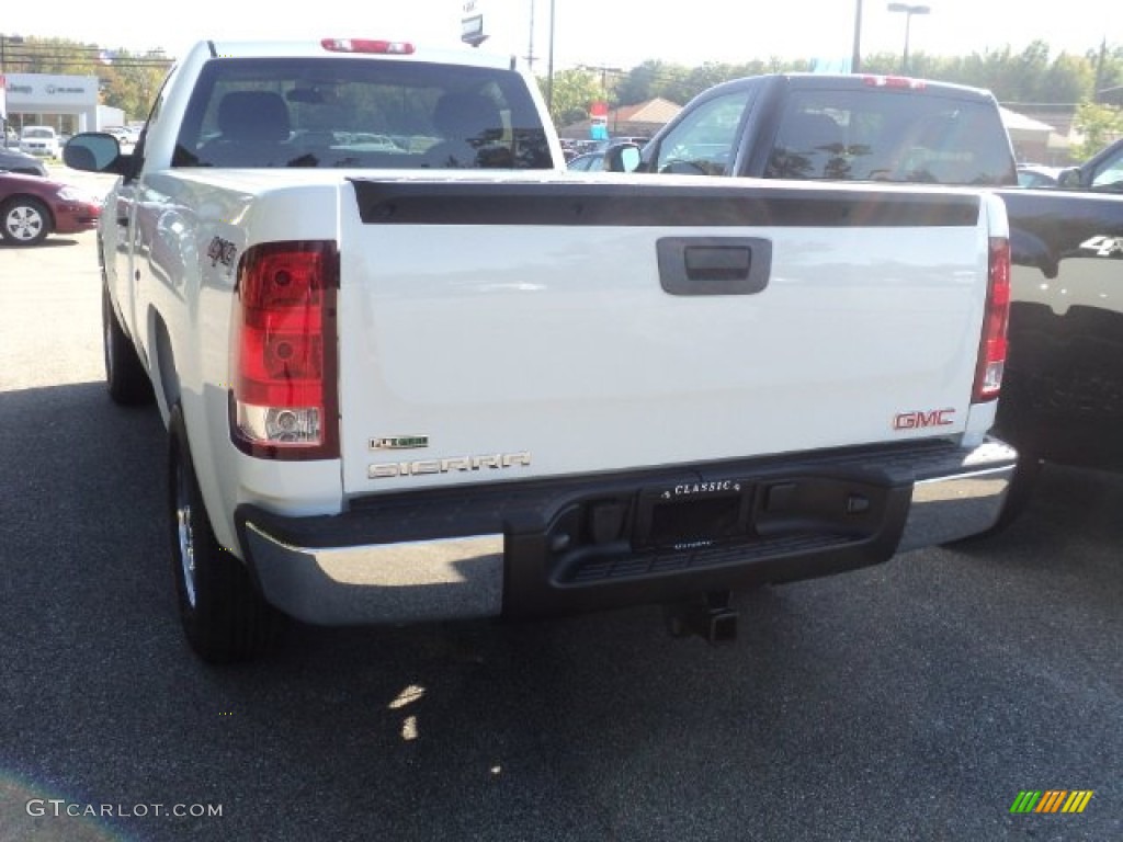
{"type": "Polygon", "coordinates": [[[1123,478],[1049,468],[1001,538],[746,595],[725,647],[652,607],[216,669],[93,241],[0,245],[0,841],[1123,839],[1123,478]]]}

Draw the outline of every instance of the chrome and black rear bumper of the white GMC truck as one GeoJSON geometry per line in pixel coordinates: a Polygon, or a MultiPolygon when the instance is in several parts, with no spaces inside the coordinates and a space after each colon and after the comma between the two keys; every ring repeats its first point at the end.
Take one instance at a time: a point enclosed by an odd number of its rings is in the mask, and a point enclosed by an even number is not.
{"type": "Polygon", "coordinates": [[[746,532],[740,541],[655,548],[634,540],[636,510],[627,507],[639,504],[629,501],[681,475],[473,487],[455,497],[446,491],[383,500],[334,518],[286,519],[246,506],[238,523],[265,598],[309,623],[540,616],[833,575],[967,538],[996,522],[1015,463],[1013,448],[988,440],[969,450],[897,448],[813,455],[798,465],[692,468],[695,477],[738,476],[754,487],[746,532]],[[792,491],[801,484],[805,495],[792,491]],[[612,514],[605,500],[624,506],[622,525],[581,543],[581,523],[612,514]],[[800,509],[801,500],[811,507],[800,509]],[[458,530],[465,534],[449,536],[458,530]]]}

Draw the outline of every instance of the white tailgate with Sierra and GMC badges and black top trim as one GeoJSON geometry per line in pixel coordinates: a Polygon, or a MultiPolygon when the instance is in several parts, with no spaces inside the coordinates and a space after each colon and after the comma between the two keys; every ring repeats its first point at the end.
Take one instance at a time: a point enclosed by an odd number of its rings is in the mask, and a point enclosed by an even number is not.
{"type": "Polygon", "coordinates": [[[693,181],[344,189],[345,493],[964,430],[978,195],[693,181]]]}

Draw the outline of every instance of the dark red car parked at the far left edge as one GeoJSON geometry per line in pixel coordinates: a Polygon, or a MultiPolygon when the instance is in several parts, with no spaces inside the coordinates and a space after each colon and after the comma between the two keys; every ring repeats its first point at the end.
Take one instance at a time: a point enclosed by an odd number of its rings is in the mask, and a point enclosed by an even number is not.
{"type": "Polygon", "coordinates": [[[79,187],[0,172],[0,237],[9,245],[35,246],[48,234],[89,231],[100,216],[98,200],[79,187]]]}

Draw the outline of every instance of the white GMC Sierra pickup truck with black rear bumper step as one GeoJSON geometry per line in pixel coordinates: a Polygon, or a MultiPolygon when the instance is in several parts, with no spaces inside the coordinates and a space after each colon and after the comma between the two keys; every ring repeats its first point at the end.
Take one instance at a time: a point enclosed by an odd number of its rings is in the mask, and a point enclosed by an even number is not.
{"type": "MultiPolygon", "coordinates": [[[[203,43],[98,235],[110,395],[168,430],[181,614],[674,606],[988,528],[1005,211],[966,189],[566,173],[509,58],[203,43]]],[[[685,622],[684,622],[685,621],[685,622]]]]}

